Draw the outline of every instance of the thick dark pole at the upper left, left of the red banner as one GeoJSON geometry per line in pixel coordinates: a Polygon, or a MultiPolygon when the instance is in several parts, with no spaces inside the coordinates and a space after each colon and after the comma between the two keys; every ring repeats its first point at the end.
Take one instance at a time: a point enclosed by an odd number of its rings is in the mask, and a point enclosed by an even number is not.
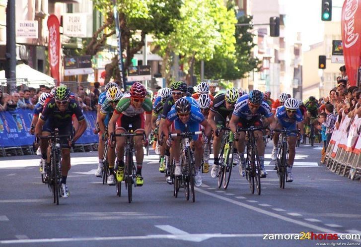
{"type": "Polygon", "coordinates": [[[16,90],[16,40],[15,40],[15,0],[7,0],[6,6],[6,66],[7,92],[16,90]]]}

